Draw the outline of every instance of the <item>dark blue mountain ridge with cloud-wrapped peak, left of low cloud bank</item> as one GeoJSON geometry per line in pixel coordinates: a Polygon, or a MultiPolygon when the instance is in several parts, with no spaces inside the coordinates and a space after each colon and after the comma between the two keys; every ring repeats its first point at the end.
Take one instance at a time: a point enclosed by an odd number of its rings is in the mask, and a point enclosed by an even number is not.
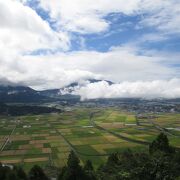
{"type": "MultiPolygon", "coordinates": [[[[87,84],[101,82],[102,80],[88,79],[82,82],[73,82],[60,89],[49,89],[36,91],[30,87],[18,85],[0,85],[0,102],[4,103],[35,103],[46,101],[79,101],[80,97],[71,94],[75,89],[86,86],[87,84]]],[[[113,84],[111,81],[106,81],[113,84]]]]}

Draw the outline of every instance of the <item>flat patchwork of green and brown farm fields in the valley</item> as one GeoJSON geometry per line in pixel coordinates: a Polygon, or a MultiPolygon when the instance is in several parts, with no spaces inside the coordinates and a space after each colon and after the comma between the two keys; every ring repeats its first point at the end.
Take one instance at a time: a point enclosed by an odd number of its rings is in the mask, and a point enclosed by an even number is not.
{"type": "Polygon", "coordinates": [[[118,108],[72,108],[62,113],[0,117],[0,161],[21,164],[29,170],[40,166],[66,165],[73,150],[81,163],[95,167],[107,155],[131,148],[147,151],[160,131],[170,144],[180,147],[180,114],[136,114],[118,108]]]}

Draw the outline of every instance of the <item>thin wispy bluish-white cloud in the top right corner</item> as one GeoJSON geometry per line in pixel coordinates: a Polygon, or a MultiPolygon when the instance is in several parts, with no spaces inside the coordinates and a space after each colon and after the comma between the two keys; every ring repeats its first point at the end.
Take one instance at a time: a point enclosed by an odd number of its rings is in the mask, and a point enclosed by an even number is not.
{"type": "Polygon", "coordinates": [[[164,34],[180,33],[179,0],[143,0],[140,11],[144,13],[142,26],[151,26],[164,34]]]}

